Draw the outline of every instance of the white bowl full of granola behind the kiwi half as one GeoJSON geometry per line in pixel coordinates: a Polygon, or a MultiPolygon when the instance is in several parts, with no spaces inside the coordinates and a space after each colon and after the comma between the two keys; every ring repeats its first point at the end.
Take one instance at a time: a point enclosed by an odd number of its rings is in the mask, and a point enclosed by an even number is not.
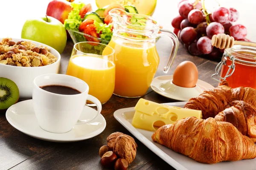
{"type": "Polygon", "coordinates": [[[0,38],[0,77],[11,79],[20,98],[32,98],[33,81],[43,74],[58,74],[61,55],[40,42],[21,38],[0,38]]]}

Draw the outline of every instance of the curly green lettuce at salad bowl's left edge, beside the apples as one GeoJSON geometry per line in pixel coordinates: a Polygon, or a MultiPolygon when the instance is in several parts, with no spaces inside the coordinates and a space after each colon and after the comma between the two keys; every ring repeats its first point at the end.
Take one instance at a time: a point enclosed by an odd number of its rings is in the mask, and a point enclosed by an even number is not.
{"type": "Polygon", "coordinates": [[[81,16],[79,15],[79,12],[83,6],[85,6],[84,3],[71,3],[71,6],[73,10],[69,13],[67,19],[64,21],[64,26],[66,29],[71,29],[75,31],[79,31],[79,26],[82,23],[81,16]]]}

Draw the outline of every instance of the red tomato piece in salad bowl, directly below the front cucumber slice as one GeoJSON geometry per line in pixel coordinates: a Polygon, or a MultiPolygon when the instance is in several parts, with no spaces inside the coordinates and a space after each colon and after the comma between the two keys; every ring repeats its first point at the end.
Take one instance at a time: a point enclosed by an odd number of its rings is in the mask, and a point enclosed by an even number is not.
{"type": "Polygon", "coordinates": [[[96,32],[96,27],[94,24],[89,24],[84,28],[84,34],[88,34],[93,37],[89,37],[87,35],[84,35],[84,37],[87,39],[87,41],[91,41],[92,43],[88,42],[90,45],[98,45],[93,42],[100,42],[97,38],[99,38],[99,34],[96,32]],[[94,38],[95,37],[95,38],[94,38]]]}

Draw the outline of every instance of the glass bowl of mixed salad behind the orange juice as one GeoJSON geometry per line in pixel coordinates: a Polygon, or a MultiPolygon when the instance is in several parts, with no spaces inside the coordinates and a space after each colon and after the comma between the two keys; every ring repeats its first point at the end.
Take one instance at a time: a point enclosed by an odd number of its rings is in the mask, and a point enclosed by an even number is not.
{"type": "Polygon", "coordinates": [[[119,4],[111,4],[107,8],[99,8],[96,11],[93,11],[90,3],[72,2],[71,6],[73,10],[64,21],[64,26],[74,43],[90,41],[107,45],[113,35],[112,17],[108,14],[113,8],[138,14],[137,9],[131,5],[123,7],[119,4]]]}

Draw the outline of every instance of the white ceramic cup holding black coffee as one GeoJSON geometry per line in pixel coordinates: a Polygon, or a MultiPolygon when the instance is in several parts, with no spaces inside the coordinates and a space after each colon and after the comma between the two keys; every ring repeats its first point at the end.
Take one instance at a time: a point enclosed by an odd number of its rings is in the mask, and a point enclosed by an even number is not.
{"type": "Polygon", "coordinates": [[[44,74],[36,77],[32,99],[35,116],[40,127],[52,133],[66,133],[74,125],[91,122],[101,112],[102,105],[96,97],[89,95],[88,91],[87,83],[73,76],[44,74]],[[40,88],[47,85],[67,86],[80,91],[81,94],[55,94],[40,88]],[[96,104],[98,113],[92,119],[79,120],[87,100],[96,104]]]}

